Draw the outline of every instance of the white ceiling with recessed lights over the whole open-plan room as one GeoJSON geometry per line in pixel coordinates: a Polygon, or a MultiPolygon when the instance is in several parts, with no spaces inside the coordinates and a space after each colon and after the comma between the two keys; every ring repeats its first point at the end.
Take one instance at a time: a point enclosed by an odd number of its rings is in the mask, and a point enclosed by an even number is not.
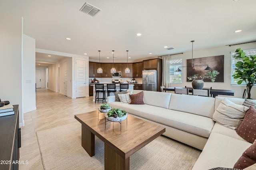
{"type": "MultiPolygon", "coordinates": [[[[256,0],[0,1],[1,12],[24,18],[23,33],[36,39],[36,49],[90,60],[98,60],[101,50],[105,62],[112,62],[112,50],[115,60],[126,61],[129,50],[134,61],[191,51],[191,40],[194,50],[256,40],[255,6],[256,0]],[[81,12],[85,2],[102,11],[95,17],[81,12]]],[[[36,53],[37,60],[47,57],[36,53]]]]}

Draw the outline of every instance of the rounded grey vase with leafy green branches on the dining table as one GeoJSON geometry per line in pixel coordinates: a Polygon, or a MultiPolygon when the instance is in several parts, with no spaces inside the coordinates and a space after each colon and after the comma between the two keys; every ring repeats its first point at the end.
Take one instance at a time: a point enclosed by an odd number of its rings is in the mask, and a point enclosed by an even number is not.
{"type": "Polygon", "coordinates": [[[204,87],[204,79],[210,79],[212,82],[216,80],[217,75],[220,74],[217,70],[208,71],[204,73],[203,76],[200,76],[201,80],[198,80],[198,74],[194,74],[188,77],[188,80],[192,80],[193,89],[203,89],[204,87]]]}

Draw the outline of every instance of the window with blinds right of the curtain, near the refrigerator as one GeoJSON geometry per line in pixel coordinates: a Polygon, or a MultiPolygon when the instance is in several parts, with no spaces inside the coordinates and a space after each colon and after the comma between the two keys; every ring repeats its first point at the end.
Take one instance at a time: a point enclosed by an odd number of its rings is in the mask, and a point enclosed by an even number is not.
{"type": "Polygon", "coordinates": [[[182,83],[182,71],[176,72],[182,66],[182,59],[170,60],[170,83],[182,83]]]}

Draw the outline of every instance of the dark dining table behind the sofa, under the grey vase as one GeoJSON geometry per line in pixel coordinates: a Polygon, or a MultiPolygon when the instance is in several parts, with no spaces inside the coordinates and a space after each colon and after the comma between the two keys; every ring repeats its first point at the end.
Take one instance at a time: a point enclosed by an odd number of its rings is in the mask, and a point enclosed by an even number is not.
{"type": "MultiPolygon", "coordinates": [[[[188,88],[188,91],[192,93],[192,87],[186,87],[188,88]]],[[[212,97],[216,97],[218,95],[228,95],[228,96],[234,96],[234,90],[224,90],[224,89],[211,89],[211,88],[203,88],[203,89],[210,89],[210,95],[212,97]]],[[[174,87],[165,87],[163,90],[166,91],[174,91],[174,87]]]]}

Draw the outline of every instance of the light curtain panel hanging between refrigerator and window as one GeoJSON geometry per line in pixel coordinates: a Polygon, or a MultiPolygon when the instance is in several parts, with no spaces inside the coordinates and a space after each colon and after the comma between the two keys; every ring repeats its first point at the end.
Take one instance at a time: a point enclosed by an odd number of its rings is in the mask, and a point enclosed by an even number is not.
{"type": "Polygon", "coordinates": [[[162,86],[170,87],[170,59],[171,55],[161,56],[163,59],[162,86]]]}

